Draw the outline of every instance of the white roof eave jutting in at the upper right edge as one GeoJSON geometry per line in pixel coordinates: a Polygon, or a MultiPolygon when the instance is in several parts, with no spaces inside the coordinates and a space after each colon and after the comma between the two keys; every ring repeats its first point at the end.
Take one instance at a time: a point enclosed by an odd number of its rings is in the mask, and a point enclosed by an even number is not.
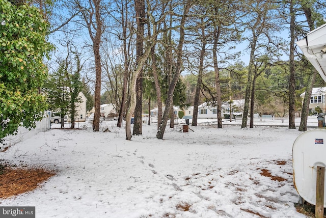
{"type": "Polygon", "coordinates": [[[309,32],[306,39],[296,42],[321,78],[326,81],[326,24],[309,32]]]}

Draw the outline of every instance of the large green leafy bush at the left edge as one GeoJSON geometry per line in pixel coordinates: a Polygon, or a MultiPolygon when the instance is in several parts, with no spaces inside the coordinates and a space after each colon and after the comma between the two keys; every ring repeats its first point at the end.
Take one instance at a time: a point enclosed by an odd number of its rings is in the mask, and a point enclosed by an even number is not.
{"type": "Polygon", "coordinates": [[[53,48],[48,28],[37,8],[0,0],[0,141],[18,126],[35,127],[46,110],[39,90],[47,77],[43,58],[53,48]]]}

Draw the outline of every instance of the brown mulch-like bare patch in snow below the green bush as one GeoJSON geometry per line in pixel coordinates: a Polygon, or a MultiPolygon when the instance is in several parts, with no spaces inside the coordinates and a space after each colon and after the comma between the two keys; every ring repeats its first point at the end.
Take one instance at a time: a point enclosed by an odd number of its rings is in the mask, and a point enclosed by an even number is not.
{"type": "MultiPolygon", "coordinates": [[[[4,166],[1,165],[0,166],[4,166]]],[[[30,192],[43,183],[54,172],[44,169],[21,169],[4,166],[0,174],[0,199],[30,192]]]]}

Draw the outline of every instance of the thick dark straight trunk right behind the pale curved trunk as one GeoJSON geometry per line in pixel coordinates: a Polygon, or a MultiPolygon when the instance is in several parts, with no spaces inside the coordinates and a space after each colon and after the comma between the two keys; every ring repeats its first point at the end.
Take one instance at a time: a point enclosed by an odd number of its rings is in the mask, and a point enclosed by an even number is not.
{"type": "MultiPolygon", "coordinates": [[[[134,0],[136,21],[137,21],[137,37],[136,37],[136,61],[139,64],[140,59],[144,55],[143,44],[144,44],[144,28],[146,23],[145,13],[145,0],[134,0]]],[[[136,81],[136,105],[134,111],[134,124],[133,132],[134,135],[142,134],[143,127],[143,70],[141,69],[140,74],[136,81]]]]}

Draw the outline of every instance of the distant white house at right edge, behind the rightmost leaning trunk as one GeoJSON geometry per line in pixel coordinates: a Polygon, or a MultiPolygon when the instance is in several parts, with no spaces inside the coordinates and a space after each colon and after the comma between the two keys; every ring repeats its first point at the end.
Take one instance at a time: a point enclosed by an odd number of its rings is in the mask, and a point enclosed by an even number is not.
{"type": "MultiPolygon", "coordinates": [[[[305,98],[306,92],[302,93],[300,97],[302,102],[305,98]]],[[[326,111],[326,87],[313,88],[309,104],[309,113],[316,113],[315,107],[319,106],[322,112],[326,111]]]]}

